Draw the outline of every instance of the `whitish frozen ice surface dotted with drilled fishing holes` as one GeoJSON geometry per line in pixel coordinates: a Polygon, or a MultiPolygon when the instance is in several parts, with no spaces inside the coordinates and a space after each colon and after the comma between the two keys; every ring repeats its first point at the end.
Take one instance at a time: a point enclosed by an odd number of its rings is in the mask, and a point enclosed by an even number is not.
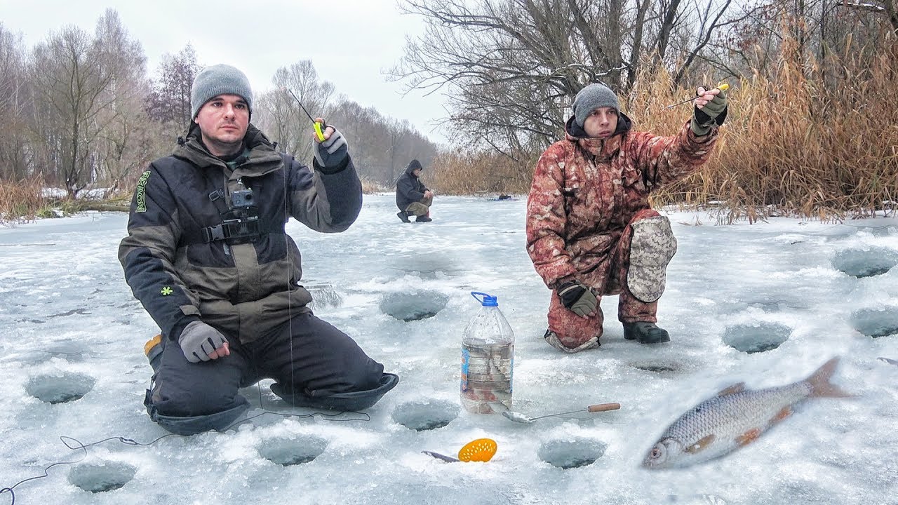
{"type": "MultiPolygon", "coordinates": [[[[171,436],[142,405],[157,332],[131,297],[117,247],[127,217],[92,213],[0,228],[0,487],[19,504],[143,503],[896,503],[898,222],[773,219],[711,226],[670,213],[679,252],[659,323],[673,341],[624,341],[603,300],[602,347],[577,355],[541,341],[549,291],[524,251],[524,199],[437,198],[434,222],[405,225],[393,196],[368,195],[335,235],[291,222],[316,314],[355,338],[401,383],[357,414],[264,414],[226,433],[171,436]],[[517,338],[515,412],[462,412],[462,329],[496,295],[517,338]],[[414,297],[418,293],[420,306],[414,297]],[[392,314],[391,314],[392,313],[392,314]],[[408,321],[406,321],[408,320],[408,321]],[[802,379],[832,356],[858,394],[812,400],[752,445],[706,465],[639,462],[667,425],[726,385],[802,379]],[[361,419],[362,421],[358,421],[361,419]],[[356,420],[356,421],[354,421],[356,420]],[[489,463],[445,463],[472,439],[489,463]],[[69,442],[77,447],[74,442],[69,442]]],[[[256,410],[310,414],[243,391],[256,410]]],[[[10,498],[0,494],[0,503],[10,498]]]]}

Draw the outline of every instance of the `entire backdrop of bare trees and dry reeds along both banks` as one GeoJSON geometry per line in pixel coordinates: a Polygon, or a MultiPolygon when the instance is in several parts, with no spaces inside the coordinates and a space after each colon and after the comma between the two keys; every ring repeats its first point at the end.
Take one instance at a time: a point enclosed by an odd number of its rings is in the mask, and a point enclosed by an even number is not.
{"type": "MultiPolygon", "coordinates": [[[[348,137],[362,176],[392,186],[410,158],[443,192],[524,192],[564,136],[585,84],[618,93],[636,128],[673,134],[698,85],[726,81],[730,114],[706,170],[659,201],[726,200],[805,214],[898,199],[898,0],[402,0],[426,26],[389,78],[442,93],[453,146],[340,96],[310,61],[281,67],[253,122],[311,156],[321,111],[348,137]]],[[[107,11],[94,33],[66,27],[34,48],[0,25],[0,180],[40,175],[70,194],[128,188],[189,124],[201,67],[189,46],[148,76],[140,44],[107,11]]]]}

